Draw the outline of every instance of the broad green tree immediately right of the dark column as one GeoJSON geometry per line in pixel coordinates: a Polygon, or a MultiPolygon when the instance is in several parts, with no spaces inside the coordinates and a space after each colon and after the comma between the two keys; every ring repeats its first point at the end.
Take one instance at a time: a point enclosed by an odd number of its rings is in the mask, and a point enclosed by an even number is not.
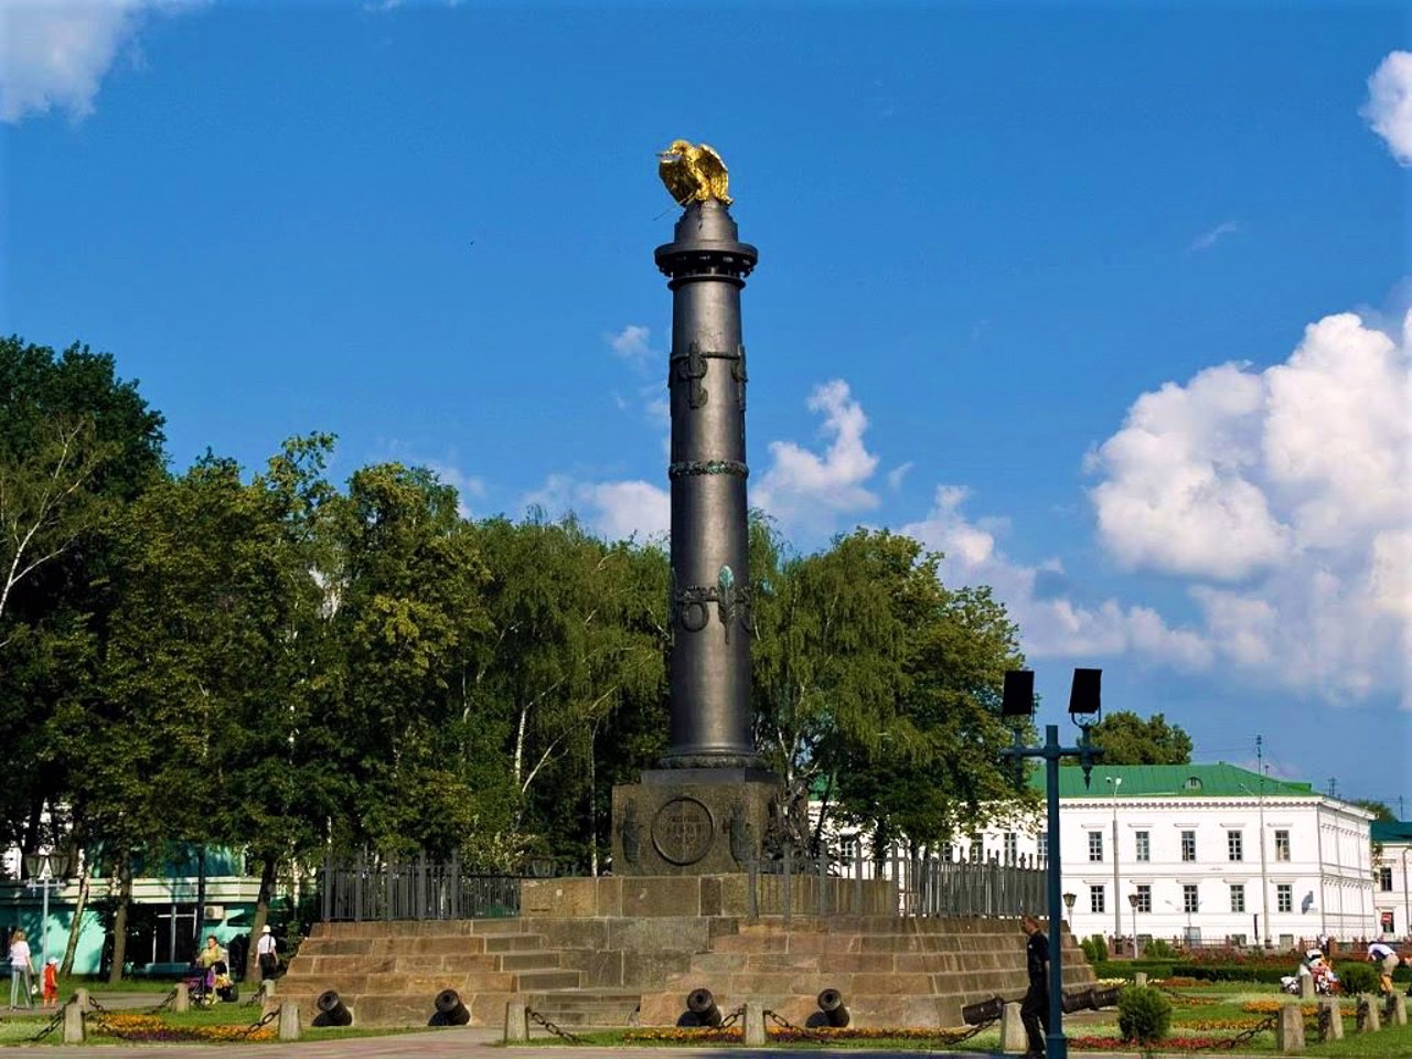
{"type": "Polygon", "coordinates": [[[798,837],[810,792],[825,802],[816,833],[834,810],[880,850],[1015,802],[998,689],[1019,654],[988,590],[952,592],[939,555],[867,530],[792,558],[757,521],[751,562],[760,744],[785,777],[798,837]]]}

